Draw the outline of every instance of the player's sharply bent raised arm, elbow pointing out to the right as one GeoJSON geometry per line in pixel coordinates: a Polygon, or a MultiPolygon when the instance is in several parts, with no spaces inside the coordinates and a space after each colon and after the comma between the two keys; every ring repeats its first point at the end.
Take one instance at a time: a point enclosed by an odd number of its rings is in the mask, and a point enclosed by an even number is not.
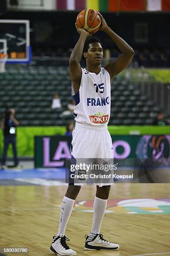
{"type": "Polygon", "coordinates": [[[109,72],[110,80],[112,81],[113,77],[116,74],[119,74],[120,72],[122,72],[123,69],[128,66],[133,58],[134,51],[120,36],[118,36],[115,32],[112,31],[111,28],[107,26],[105,19],[100,13],[99,15],[102,19],[102,25],[100,27],[100,30],[104,31],[108,36],[110,36],[110,38],[112,38],[112,40],[115,42],[115,44],[117,44],[117,47],[122,52],[122,55],[120,55],[116,61],[110,62],[105,67],[105,69],[109,72]]]}

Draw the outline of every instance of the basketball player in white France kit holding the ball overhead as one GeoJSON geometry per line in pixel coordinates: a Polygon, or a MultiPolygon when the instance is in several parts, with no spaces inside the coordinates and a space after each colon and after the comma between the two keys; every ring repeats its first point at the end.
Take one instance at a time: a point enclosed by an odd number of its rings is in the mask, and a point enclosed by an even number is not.
{"type": "MultiPolygon", "coordinates": [[[[103,49],[99,39],[91,37],[89,33],[75,24],[80,38],[69,60],[72,96],[75,100],[75,128],[72,132],[71,145],[72,157],[75,159],[113,158],[112,140],[107,130],[110,117],[110,86],[114,76],[128,66],[134,55],[133,49],[107,26],[100,13],[99,15],[102,20],[100,30],[110,36],[122,55],[102,68],[103,49]],[[86,61],[85,69],[80,67],[82,56],[86,61]],[[102,118],[93,118],[98,112],[104,113],[102,118]]],[[[65,236],[65,228],[80,188],[81,186],[74,180],[71,181],[62,200],[58,233],[53,236],[50,247],[50,251],[57,255],[77,255],[66,243],[69,239],[65,236]]],[[[110,184],[97,185],[92,229],[90,234],[86,235],[86,250],[117,250],[120,248],[118,244],[108,242],[100,234],[109,191],[110,184]]]]}

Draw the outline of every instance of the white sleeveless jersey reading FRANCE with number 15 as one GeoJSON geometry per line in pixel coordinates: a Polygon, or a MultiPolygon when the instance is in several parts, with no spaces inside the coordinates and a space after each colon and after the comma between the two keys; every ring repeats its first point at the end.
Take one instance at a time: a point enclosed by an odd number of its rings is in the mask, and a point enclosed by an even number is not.
{"type": "Polygon", "coordinates": [[[75,94],[75,121],[89,125],[106,125],[110,118],[110,74],[101,68],[99,74],[82,69],[80,89],[75,94]]]}

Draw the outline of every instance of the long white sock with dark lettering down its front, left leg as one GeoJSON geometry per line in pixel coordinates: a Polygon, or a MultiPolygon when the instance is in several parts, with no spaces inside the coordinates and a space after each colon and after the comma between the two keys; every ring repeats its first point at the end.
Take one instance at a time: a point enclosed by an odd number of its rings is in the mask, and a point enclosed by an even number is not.
{"type": "Polygon", "coordinates": [[[71,215],[72,208],[74,205],[75,200],[64,197],[62,200],[62,205],[61,205],[61,212],[60,212],[60,223],[58,227],[58,233],[57,236],[62,236],[65,234],[65,228],[68,222],[68,219],[71,215]]]}

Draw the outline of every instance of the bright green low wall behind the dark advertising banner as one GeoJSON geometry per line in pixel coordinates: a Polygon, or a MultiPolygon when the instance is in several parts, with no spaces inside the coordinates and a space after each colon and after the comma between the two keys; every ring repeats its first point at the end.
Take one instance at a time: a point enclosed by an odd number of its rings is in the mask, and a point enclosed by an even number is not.
{"type": "MultiPolygon", "coordinates": [[[[170,134],[170,126],[108,126],[110,134],[170,134]]],[[[35,135],[64,135],[65,126],[42,126],[42,127],[18,127],[17,128],[17,148],[19,156],[34,156],[34,136],[35,135]]],[[[0,155],[2,155],[3,136],[0,131],[0,155]]],[[[8,150],[8,156],[12,156],[12,147],[8,150]]]]}

